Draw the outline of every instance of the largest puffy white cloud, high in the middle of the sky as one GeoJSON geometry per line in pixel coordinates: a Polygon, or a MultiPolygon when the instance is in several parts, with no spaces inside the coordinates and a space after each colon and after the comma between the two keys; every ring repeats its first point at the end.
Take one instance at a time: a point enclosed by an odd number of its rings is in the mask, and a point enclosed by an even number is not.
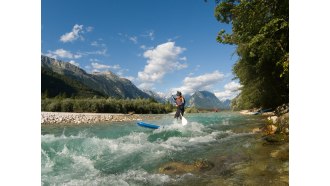
{"type": "Polygon", "coordinates": [[[167,42],[158,45],[156,48],[146,50],[143,54],[147,58],[147,65],[143,71],[138,72],[138,80],[141,88],[149,88],[163,77],[175,70],[187,67],[187,64],[180,63],[179,55],[185,48],[175,46],[174,42],[167,42]]]}

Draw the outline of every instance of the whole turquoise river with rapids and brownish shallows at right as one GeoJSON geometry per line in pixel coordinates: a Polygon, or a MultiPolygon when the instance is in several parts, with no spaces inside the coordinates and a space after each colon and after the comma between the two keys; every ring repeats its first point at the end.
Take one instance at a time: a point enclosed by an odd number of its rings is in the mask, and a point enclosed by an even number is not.
{"type": "Polygon", "coordinates": [[[156,130],[136,121],[42,126],[42,185],[288,185],[289,160],[279,155],[288,144],[267,145],[252,132],[265,118],[186,114],[182,126],[156,116],[145,121],[156,130]],[[189,169],[196,162],[206,166],[189,169]]]}

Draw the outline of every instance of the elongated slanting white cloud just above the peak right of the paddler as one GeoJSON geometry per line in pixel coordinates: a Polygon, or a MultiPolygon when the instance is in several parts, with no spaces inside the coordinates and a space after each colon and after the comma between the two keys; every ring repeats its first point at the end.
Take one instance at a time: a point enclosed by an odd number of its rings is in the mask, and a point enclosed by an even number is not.
{"type": "Polygon", "coordinates": [[[212,86],[224,79],[224,74],[219,71],[203,74],[196,77],[186,77],[183,80],[183,86],[173,88],[171,92],[180,90],[184,94],[191,94],[198,90],[209,90],[212,86]]]}

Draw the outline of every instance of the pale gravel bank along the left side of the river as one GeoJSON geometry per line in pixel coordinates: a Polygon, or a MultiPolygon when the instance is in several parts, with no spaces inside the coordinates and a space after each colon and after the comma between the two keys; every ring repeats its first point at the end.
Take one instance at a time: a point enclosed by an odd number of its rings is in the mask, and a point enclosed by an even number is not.
{"type": "Polygon", "coordinates": [[[138,114],[41,112],[41,124],[83,125],[102,122],[138,121],[145,117],[138,114]]]}

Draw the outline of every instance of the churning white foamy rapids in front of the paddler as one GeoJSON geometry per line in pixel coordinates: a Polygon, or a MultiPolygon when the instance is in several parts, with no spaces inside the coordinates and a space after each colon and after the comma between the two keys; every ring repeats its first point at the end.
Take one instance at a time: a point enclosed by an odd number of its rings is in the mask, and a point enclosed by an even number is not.
{"type": "Polygon", "coordinates": [[[223,133],[229,134],[225,138],[239,135],[231,131],[211,132],[209,128],[197,122],[188,123],[186,126],[173,123],[154,130],[151,134],[166,131],[179,131],[182,136],[173,136],[166,140],[150,142],[148,141],[150,133],[144,132],[131,132],[129,135],[117,139],[91,137],[88,133],[71,136],[66,136],[64,133],[61,136],[42,135],[42,143],[62,142],[60,144],[63,146],[60,149],[57,148],[59,149],[57,152],[52,146],[48,147],[48,150],[54,151],[55,156],[70,162],[65,170],[60,170],[59,175],[49,173],[53,171],[55,163],[54,160],[49,158],[47,152],[42,149],[42,182],[55,185],[163,185],[172,179],[167,175],[150,174],[145,170],[135,169],[145,165],[145,163],[157,163],[159,159],[168,156],[170,153],[219,141],[218,137],[223,133]],[[82,139],[78,148],[70,143],[71,140],[76,141],[76,139],[82,139]],[[111,169],[113,163],[121,164],[121,162],[132,161],[132,157],[140,154],[143,155],[141,155],[139,162],[133,162],[132,167],[122,168],[121,171],[124,171],[122,173],[106,175],[102,170],[97,169],[96,164],[98,161],[109,165],[111,169]]]}

